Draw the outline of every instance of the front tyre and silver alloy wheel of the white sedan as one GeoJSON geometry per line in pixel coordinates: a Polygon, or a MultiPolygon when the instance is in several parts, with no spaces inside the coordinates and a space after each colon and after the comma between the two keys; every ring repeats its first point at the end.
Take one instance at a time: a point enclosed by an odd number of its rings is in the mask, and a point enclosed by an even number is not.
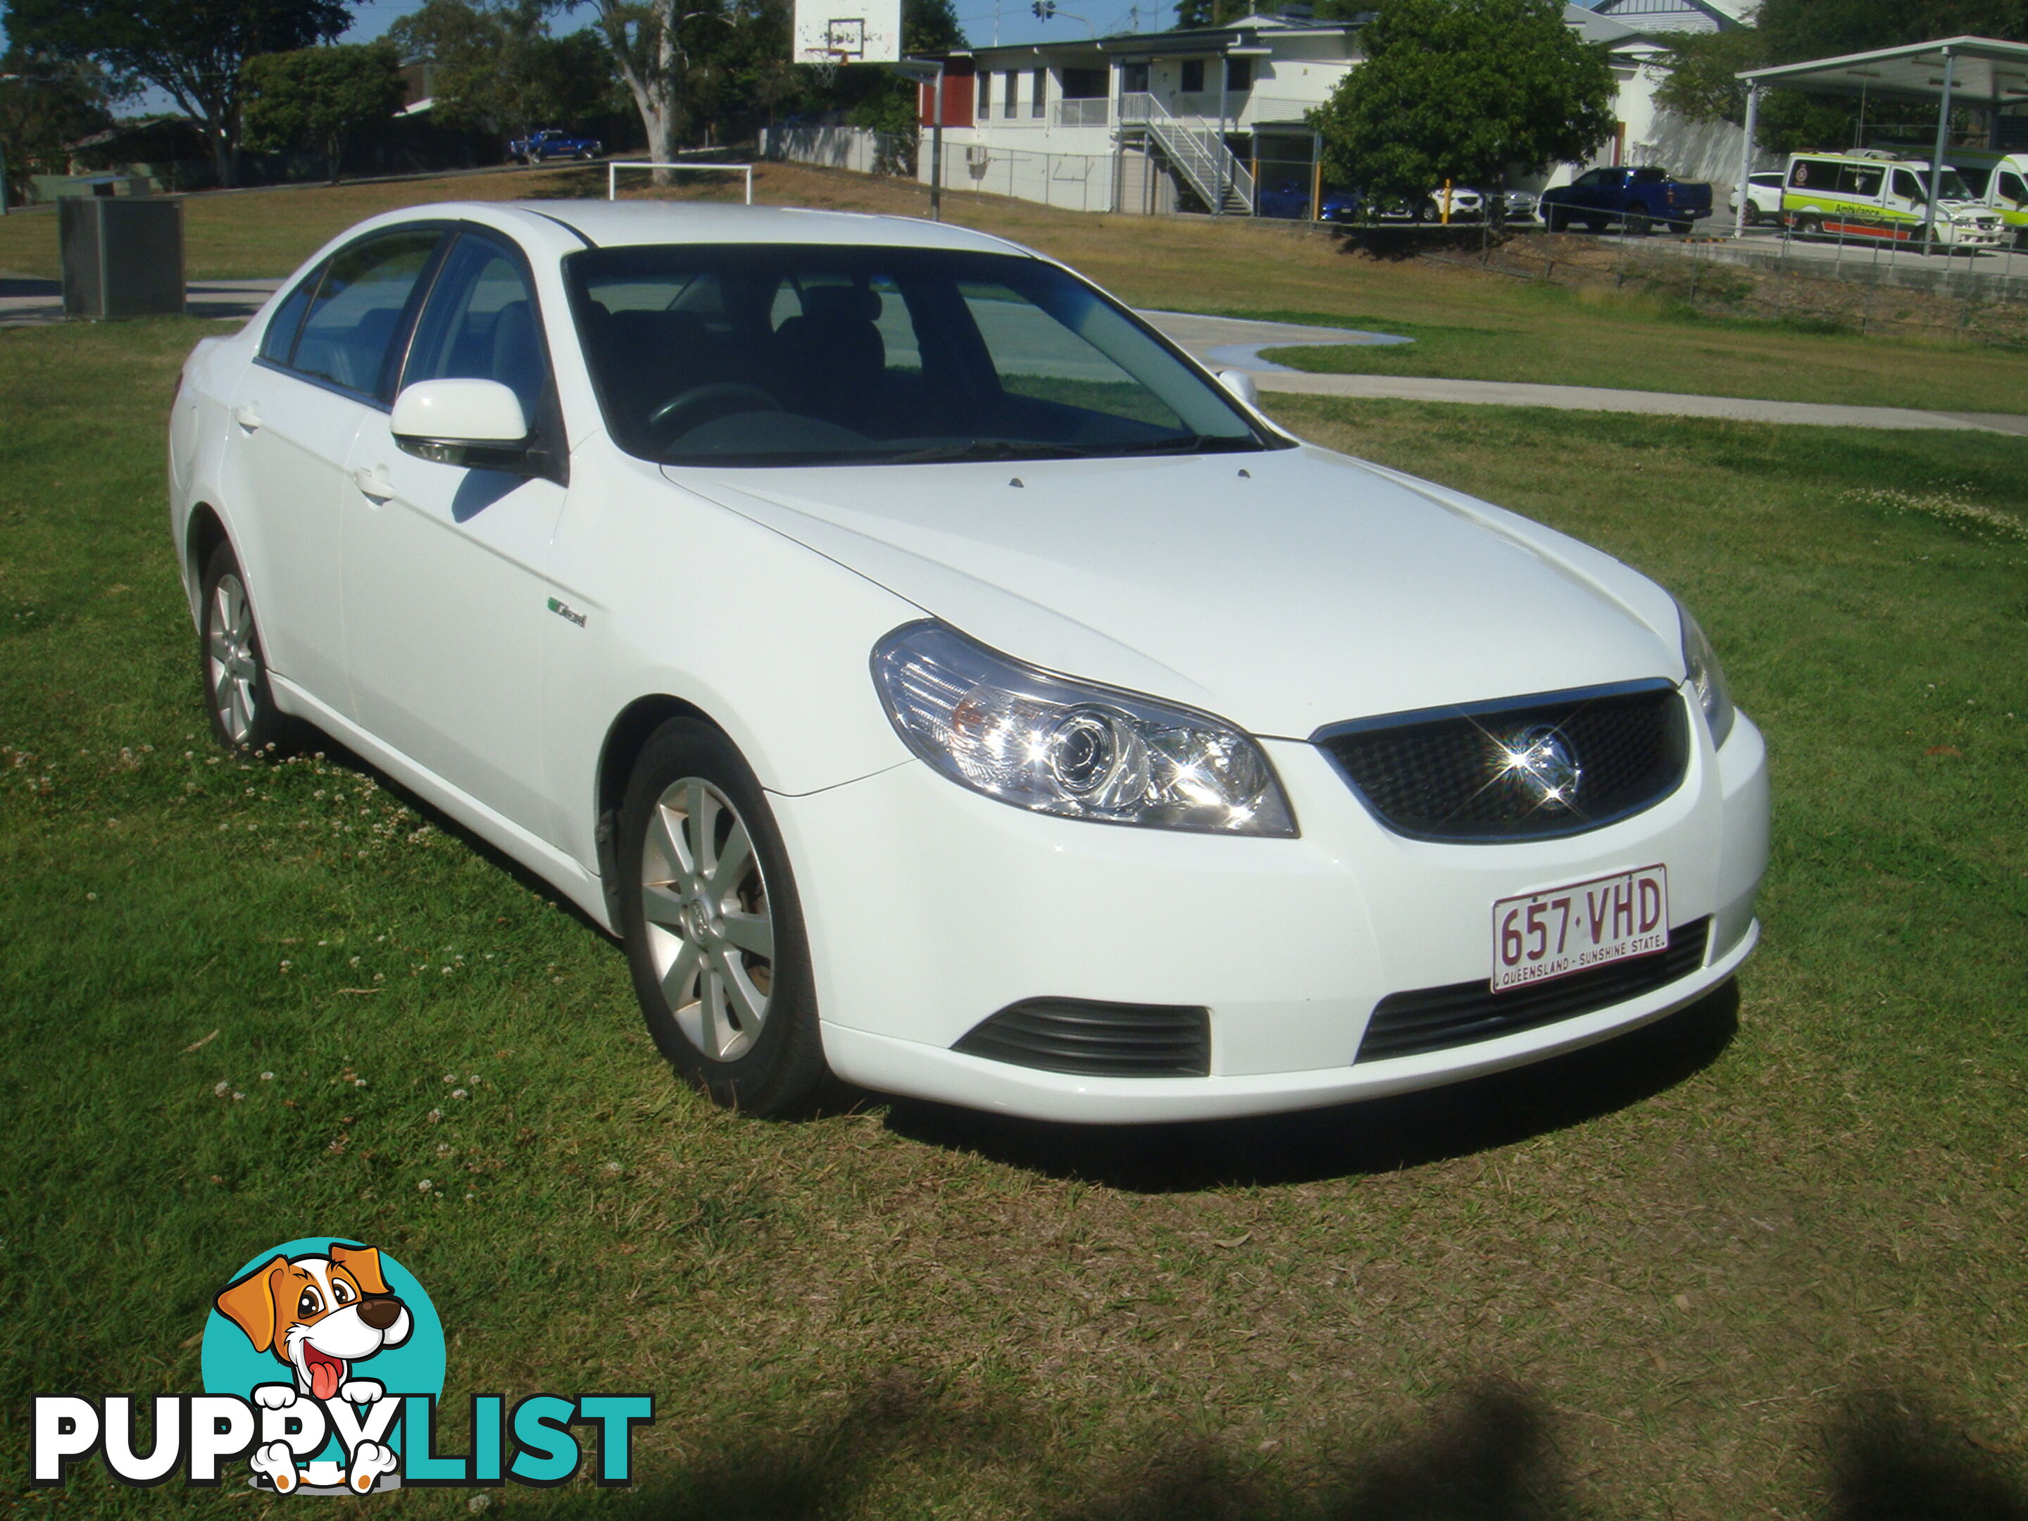
{"type": "Polygon", "coordinates": [[[809,1111],[831,1083],[809,941],[767,795],[724,734],[671,718],[619,821],[621,935],[657,1048],[728,1109],[809,1111]]]}

